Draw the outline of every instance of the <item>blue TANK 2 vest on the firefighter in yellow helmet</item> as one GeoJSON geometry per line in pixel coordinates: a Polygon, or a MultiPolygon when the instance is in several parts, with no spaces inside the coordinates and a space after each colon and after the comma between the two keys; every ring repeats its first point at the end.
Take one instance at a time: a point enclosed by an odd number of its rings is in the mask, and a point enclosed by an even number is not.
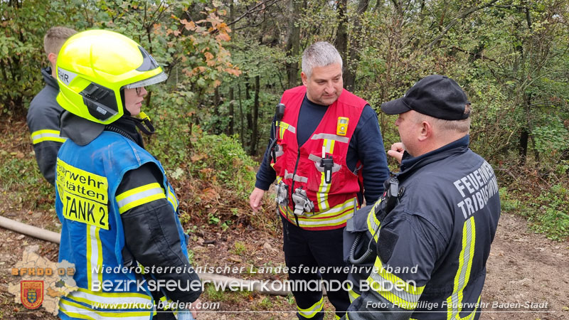
{"type": "Polygon", "coordinates": [[[180,238],[187,259],[186,235],[176,215],[178,201],[159,161],[126,137],[102,132],[84,146],[70,139],[63,144],[55,182],[55,210],[62,223],[59,261],[75,264],[73,279],[78,287],[60,300],[60,318],[83,319],[85,312],[97,312],[103,319],[127,315],[151,319],[155,302],[147,283],[137,285],[140,276],[135,272],[140,270],[124,268],[120,213],[144,201],[166,198],[178,230],[172,236],[180,238]],[[161,170],[163,181],[132,196],[115,197],[124,174],[148,163],[161,170]],[[105,283],[112,285],[105,287],[105,283]]]}

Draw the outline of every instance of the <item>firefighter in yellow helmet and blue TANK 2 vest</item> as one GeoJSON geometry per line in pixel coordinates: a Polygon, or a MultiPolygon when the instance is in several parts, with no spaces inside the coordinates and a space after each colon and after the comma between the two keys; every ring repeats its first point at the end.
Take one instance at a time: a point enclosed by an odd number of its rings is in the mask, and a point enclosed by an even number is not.
{"type": "Polygon", "coordinates": [[[201,282],[178,200],[137,131],[154,131],[140,108],[164,70],[131,39],[92,30],[65,42],[57,76],[68,138],[55,178],[59,261],[75,264],[78,287],[60,300],[60,318],[174,319],[188,309],[195,317],[201,282]]]}

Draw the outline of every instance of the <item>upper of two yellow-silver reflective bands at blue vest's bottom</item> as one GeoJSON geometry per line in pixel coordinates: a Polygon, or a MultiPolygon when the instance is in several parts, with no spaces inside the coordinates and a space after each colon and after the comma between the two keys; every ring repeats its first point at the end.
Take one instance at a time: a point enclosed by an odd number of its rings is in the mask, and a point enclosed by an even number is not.
{"type": "MultiPolygon", "coordinates": [[[[132,284],[136,285],[136,284],[132,284]]],[[[152,309],[154,304],[150,296],[146,294],[137,294],[135,292],[95,292],[86,290],[83,288],[78,288],[78,291],[71,292],[67,296],[75,302],[83,302],[84,304],[115,304],[119,305],[119,308],[123,304],[129,304],[130,306],[137,306],[137,308],[132,309],[152,309]]],[[[102,306],[100,306],[102,308],[102,306]]]]}

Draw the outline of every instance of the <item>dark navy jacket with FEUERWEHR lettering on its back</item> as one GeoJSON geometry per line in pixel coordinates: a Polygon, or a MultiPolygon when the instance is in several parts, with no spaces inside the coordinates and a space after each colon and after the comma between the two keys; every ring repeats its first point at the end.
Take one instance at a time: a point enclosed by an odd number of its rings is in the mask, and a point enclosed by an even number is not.
{"type": "Polygon", "coordinates": [[[346,319],[479,318],[500,201],[494,171],[468,143],[404,155],[399,203],[381,221],[368,214],[377,255],[346,319]]]}

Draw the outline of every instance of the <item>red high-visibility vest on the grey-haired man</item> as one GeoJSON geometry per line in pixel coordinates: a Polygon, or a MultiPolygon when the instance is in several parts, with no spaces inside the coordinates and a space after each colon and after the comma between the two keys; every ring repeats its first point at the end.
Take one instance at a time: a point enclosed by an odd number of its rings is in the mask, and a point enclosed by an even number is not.
{"type": "Polygon", "coordinates": [[[281,206],[280,213],[294,225],[309,230],[331,230],[344,227],[354,210],[359,208],[356,193],[360,191],[358,175],[346,165],[346,155],[353,131],[363,111],[366,100],[347,90],[321,119],[312,137],[302,146],[297,142],[297,122],[302,100],[307,89],[304,85],[285,91],[281,102],[285,114],[277,132],[276,161],[272,163],[277,173],[277,183],[288,188],[288,205],[281,206]],[[349,119],[346,130],[339,129],[339,117],[349,119]],[[320,166],[324,153],[333,156],[331,183],[326,183],[324,169],[320,166]],[[292,193],[302,187],[314,203],[312,213],[294,214],[292,193]]]}

